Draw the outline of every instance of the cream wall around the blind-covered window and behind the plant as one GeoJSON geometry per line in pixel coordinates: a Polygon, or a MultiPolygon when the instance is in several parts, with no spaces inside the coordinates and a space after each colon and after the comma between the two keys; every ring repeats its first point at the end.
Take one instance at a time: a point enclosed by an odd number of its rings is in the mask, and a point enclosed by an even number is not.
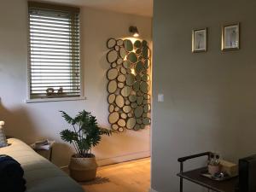
{"type": "MultiPolygon", "coordinates": [[[[72,151],[62,143],[59,132],[67,128],[60,110],[71,115],[85,109],[96,115],[99,125],[108,125],[106,42],[108,38],[129,37],[128,27],[136,25],[142,38],[151,40],[151,18],[81,9],[84,101],[25,103],[27,63],[26,1],[0,2],[0,119],[6,121],[7,134],[26,143],[40,138],[57,144],[53,161],[66,166],[72,151]]],[[[94,152],[100,165],[131,160],[149,154],[149,129],[125,131],[104,137],[94,152]]]]}

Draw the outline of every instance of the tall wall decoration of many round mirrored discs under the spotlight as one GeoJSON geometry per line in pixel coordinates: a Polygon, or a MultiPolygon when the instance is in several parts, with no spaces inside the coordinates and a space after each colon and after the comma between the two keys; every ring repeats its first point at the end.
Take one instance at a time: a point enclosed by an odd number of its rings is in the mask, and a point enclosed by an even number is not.
{"type": "Polygon", "coordinates": [[[108,121],[115,131],[139,131],[151,124],[151,50],[145,40],[109,38],[108,121]]]}

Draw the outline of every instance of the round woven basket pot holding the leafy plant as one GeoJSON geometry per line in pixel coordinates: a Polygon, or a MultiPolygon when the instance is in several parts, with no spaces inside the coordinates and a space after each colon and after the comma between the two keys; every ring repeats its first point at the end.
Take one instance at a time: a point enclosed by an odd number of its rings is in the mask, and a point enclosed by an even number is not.
{"type": "Polygon", "coordinates": [[[96,178],[98,165],[95,157],[80,158],[73,155],[68,167],[70,176],[78,182],[90,181],[96,178]]]}

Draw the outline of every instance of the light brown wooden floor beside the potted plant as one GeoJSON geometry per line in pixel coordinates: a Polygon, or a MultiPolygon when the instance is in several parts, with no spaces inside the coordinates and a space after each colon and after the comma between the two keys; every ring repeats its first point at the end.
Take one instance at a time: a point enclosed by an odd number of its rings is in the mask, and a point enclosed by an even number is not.
{"type": "Polygon", "coordinates": [[[148,192],[150,159],[102,166],[95,181],[81,184],[86,192],[148,192]]]}

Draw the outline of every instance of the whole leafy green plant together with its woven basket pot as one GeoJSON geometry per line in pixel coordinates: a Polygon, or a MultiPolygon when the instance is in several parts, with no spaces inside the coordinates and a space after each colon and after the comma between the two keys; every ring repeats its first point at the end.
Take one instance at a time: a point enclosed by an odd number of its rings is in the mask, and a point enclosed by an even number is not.
{"type": "Polygon", "coordinates": [[[61,131],[61,139],[72,143],[76,151],[69,164],[70,176],[77,181],[89,181],[96,177],[96,159],[91,153],[91,148],[95,147],[102,139],[102,135],[110,136],[112,131],[101,128],[97,125],[96,117],[91,113],[82,111],[75,118],[70,117],[61,111],[62,117],[73,130],[61,131]]]}

